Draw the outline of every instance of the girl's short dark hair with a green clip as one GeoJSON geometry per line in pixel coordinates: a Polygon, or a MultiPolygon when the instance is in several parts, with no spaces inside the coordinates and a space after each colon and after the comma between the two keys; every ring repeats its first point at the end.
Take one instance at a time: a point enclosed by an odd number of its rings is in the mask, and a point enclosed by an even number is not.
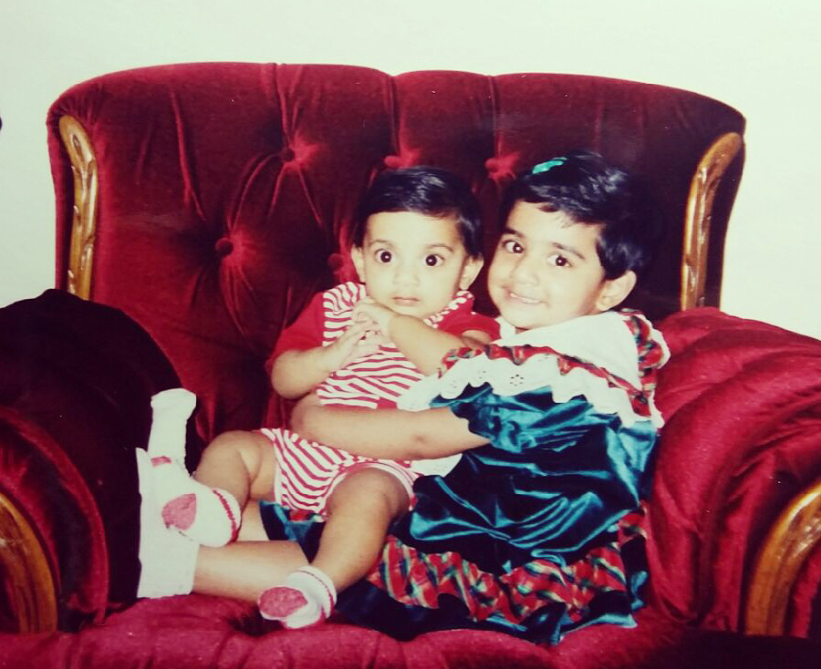
{"type": "Polygon", "coordinates": [[[520,174],[506,193],[502,221],[518,201],[601,225],[598,260],[608,279],[629,270],[640,276],[659,242],[657,212],[644,184],[593,151],[573,151],[520,174]]]}

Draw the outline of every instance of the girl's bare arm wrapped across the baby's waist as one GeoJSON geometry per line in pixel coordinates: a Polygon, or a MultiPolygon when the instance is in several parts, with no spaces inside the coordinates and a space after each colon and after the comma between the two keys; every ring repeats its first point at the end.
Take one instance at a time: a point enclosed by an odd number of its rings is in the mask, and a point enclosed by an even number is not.
{"type": "Polygon", "coordinates": [[[294,408],[291,426],[302,437],[366,458],[443,458],[487,443],[447,407],[424,411],[323,407],[307,398],[294,408]]]}

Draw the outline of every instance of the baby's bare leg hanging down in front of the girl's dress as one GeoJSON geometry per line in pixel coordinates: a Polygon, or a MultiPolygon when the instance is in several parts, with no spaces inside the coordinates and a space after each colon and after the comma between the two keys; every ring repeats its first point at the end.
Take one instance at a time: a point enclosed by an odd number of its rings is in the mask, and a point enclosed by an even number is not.
{"type": "Polygon", "coordinates": [[[327,501],[327,522],[311,563],[336,589],[359,581],[379,556],[390,523],[408,510],[399,479],[378,468],[343,479],[327,501]]]}

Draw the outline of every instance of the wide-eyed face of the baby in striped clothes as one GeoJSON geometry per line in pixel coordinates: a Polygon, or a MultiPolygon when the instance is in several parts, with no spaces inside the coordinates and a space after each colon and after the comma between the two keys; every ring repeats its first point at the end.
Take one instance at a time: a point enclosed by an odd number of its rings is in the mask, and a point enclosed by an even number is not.
{"type": "Polygon", "coordinates": [[[370,297],[417,318],[442,311],[482,266],[465,250],[454,219],[414,211],[370,216],[362,247],[354,247],[351,258],[370,297]]]}

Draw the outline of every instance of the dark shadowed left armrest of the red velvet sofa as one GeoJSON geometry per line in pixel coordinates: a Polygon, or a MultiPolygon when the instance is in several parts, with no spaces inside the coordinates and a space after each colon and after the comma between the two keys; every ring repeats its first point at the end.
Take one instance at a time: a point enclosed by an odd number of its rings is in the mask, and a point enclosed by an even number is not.
{"type": "Polygon", "coordinates": [[[0,309],[4,627],[72,630],[134,601],[134,450],[151,396],[175,386],[151,337],[116,309],[61,291],[0,309]]]}

